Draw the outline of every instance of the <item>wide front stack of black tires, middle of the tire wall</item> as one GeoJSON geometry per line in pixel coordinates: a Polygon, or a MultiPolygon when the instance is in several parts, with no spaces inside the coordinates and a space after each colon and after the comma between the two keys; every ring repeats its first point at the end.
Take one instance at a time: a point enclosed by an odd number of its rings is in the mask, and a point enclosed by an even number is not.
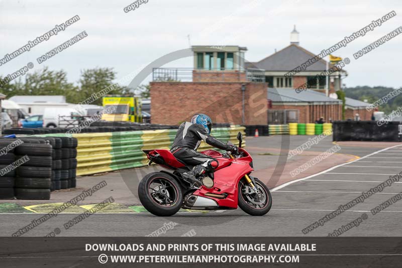
{"type": "Polygon", "coordinates": [[[52,186],[52,143],[44,138],[20,138],[24,144],[15,148],[16,160],[25,161],[17,167],[15,196],[17,199],[49,200],[52,186]]]}

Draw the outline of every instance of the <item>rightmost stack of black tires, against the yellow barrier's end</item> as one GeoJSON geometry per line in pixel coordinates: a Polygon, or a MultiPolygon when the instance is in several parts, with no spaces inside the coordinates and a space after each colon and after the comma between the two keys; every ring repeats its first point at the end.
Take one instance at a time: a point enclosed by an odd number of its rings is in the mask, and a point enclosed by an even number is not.
{"type": "MultiPolygon", "coordinates": [[[[60,182],[60,189],[75,188],[78,141],[76,138],[73,137],[58,138],[61,140],[61,148],[59,149],[60,161],[57,161],[54,165],[56,179],[58,179],[58,181],[60,182]]],[[[56,190],[59,190],[58,183],[56,184],[56,190]]]]}

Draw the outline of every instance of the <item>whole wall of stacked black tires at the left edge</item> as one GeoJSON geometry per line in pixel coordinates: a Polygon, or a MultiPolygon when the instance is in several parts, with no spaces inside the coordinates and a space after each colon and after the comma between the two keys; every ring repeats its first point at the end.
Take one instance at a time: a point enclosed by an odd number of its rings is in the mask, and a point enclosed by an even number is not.
{"type": "Polygon", "coordinates": [[[75,188],[76,145],[67,137],[0,138],[0,169],[8,171],[0,172],[0,199],[49,200],[54,190],[75,188]]]}

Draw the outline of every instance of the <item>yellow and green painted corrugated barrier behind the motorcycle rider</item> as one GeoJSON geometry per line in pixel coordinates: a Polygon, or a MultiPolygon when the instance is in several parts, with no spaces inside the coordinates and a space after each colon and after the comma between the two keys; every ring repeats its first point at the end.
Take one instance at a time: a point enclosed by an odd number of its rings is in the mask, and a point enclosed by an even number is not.
{"type": "MultiPolygon", "coordinates": [[[[237,133],[245,135],[245,127],[215,127],[212,135],[227,142],[237,144],[237,133]]],[[[176,136],[176,129],[116,131],[102,133],[72,134],[78,141],[76,175],[102,173],[125,168],[141,167],[148,164],[142,150],[170,149],[176,136]]],[[[46,134],[42,136],[66,137],[66,134],[46,134]]],[[[243,140],[245,146],[245,140],[243,140]]],[[[202,142],[198,150],[212,148],[202,142]]]]}

